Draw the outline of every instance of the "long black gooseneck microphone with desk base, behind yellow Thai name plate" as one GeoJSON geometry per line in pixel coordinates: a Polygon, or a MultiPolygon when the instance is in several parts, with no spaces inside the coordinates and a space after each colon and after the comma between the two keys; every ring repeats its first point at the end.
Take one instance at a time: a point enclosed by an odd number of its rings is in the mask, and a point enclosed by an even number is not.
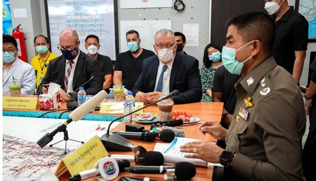
{"type": "Polygon", "coordinates": [[[179,95],[179,91],[178,90],[174,90],[169,95],[167,95],[166,97],[163,97],[160,100],[152,102],[149,105],[144,106],[143,108],[140,108],[140,109],[138,109],[136,111],[130,112],[130,113],[126,114],[126,115],[123,115],[123,116],[121,116],[119,118],[114,119],[112,122],[110,122],[107,133],[104,134],[101,137],[101,141],[102,141],[104,147],[106,147],[106,149],[108,151],[131,151],[130,145],[133,145],[131,142],[129,142],[127,139],[125,139],[125,138],[123,138],[123,137],[121,137],[121,136],[119,136],[117,134],[110,135],[110,127],[111,127],[112,123],[117,121],[117,120],[120,120],[120,119],[124,118],[125,116],[129,116],[129,115],[134,114],[134,113],[136,113],[136,112],[138,112],[140,110],[143,110],[143,109],[145,109],[145,108],[147,108],[147,107],[149,107],[149,106],[151,106],[153,104],[156,104],[157,102],[160,102],[162,100],[165,100],[167,98],[170,98],[170,97],[173,97],[173,96],[177,96],[177,95],[179,95]]]}

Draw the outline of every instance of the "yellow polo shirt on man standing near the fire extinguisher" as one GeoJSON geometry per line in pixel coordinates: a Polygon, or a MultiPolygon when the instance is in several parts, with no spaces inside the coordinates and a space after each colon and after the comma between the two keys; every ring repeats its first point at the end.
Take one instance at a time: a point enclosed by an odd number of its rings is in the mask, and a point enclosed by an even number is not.
{"type": "Polygon", "coordinates": [[[32,59],[31,65],[34,67],[36,72],[36,87],[38,87],[41,83],[41,77],[44,78],[47,71],[48,63],[56,57],[58,56],[48,52],[44,60],[40,58],[39,54],[37,54],[37,56],[32,59]]]}

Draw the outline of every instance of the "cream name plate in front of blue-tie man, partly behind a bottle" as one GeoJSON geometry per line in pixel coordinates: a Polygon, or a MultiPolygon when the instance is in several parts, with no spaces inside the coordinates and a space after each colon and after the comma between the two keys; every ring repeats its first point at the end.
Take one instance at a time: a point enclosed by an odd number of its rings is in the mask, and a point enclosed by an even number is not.
{"type": "MultiPolygon", "coordinates": [[[[115,102],[115,101],[106,101],[102,102],[100,114],[123,114],[125,102],[115,102]]],[[[144,107],[144,102],[135,102],[135,110],[141,109],[144,107]]],[[[136,112],[135,114],[141,114],[143,110],[136,112]]]]}

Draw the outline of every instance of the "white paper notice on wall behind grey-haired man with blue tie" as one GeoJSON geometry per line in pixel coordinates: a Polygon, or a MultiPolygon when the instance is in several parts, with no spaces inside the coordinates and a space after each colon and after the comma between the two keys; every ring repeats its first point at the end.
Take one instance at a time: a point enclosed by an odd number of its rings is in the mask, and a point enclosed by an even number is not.
{"type": "Polygon", "coordinates": [[[141,47],[154,52],[154,36],[160,29],[171,30],[171,20],[120,21],[120,52],[127,51],[126,32],[136,30],[141,39],[141,47]]]}

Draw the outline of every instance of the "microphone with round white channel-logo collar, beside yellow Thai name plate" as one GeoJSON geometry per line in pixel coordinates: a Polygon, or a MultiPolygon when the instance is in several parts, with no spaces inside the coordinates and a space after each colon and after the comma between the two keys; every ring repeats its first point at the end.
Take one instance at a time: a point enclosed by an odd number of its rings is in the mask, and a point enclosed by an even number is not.
{"type": "Polygon", "coordinates": [[[130,163],[128,160],[115,161],[110,157],[104,157],[94,164],[93,169],[77,173],[70,177],[69,181],[85,180],[95,176],[101,176],[106,180],[112,180],[118,176],[119,172],[124,171],[124,169],[129,166],[130,163]]]}

